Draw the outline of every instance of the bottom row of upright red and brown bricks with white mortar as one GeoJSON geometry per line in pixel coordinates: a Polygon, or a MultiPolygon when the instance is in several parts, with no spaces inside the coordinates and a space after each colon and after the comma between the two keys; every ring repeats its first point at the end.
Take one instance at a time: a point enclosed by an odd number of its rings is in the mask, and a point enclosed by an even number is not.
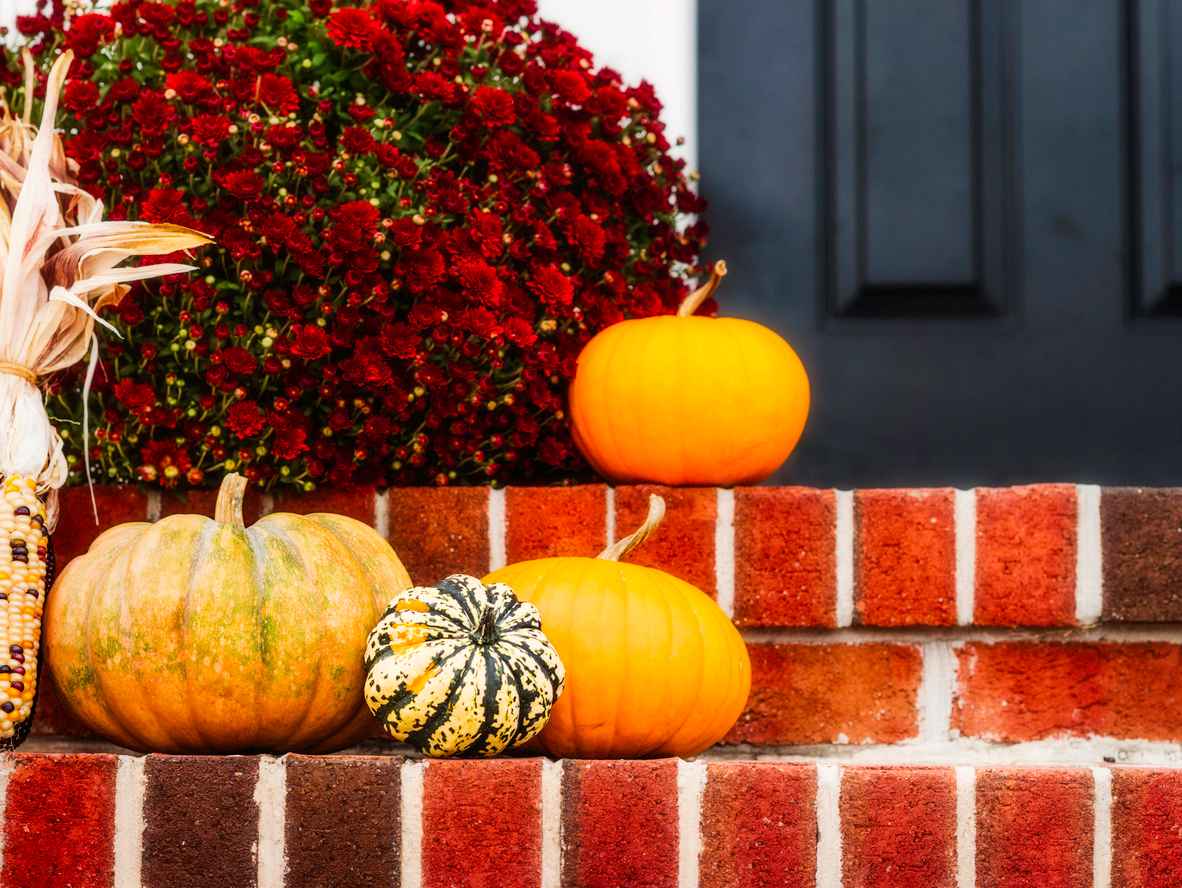
{"type": "Polygon", "coordinates": [[[0,793],[5,886],[1182,884],[1175,769],[15,753],[0,793]]]}

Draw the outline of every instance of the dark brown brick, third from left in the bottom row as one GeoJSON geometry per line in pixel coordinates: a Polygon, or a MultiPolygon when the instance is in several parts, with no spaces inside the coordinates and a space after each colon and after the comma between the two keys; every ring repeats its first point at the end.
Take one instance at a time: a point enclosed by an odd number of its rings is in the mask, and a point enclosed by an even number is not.
{"type": "Polygon", "coordinates": [[[397,884],[400,769],[388,756],[288,756],[287,884],[397,884]]]}

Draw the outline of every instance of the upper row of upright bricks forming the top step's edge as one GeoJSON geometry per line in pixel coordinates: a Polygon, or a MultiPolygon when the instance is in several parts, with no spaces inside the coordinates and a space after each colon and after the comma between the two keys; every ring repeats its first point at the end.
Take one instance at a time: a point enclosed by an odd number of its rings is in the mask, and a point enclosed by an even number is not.
{"type": "MultiPolygon", "coordinates": [[[[214,491],[63,491],[65,564],[99,530],[210,514],[214,491]]],[[[631,560],[694,583],[746,628],[1078,627],[1182,622],[1182,488],[1046,484],[955,491],[605,487],[352,487],[259,495],[271,511],[332,511],[375,526],[411,577],[482,575],[552,555],[596,555],[669,504],[631,560]]]]}

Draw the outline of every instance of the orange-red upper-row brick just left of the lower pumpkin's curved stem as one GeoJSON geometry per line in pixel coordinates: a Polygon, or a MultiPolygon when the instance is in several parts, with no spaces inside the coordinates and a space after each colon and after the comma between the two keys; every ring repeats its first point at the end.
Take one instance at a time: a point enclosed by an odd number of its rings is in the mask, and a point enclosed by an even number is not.
{"type": "Polygon", "coordinates": [[[582,487],[508,487],[505,547],[508,563],[552,556],[593,557],[606,545],[606,491],[582,487]]]}

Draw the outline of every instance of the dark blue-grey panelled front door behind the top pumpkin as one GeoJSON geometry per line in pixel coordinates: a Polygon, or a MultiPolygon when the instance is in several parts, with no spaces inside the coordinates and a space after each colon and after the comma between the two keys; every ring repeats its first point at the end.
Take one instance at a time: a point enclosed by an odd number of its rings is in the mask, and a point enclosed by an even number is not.
{"type": "Polygon", "coordinates": [[[699,4],[723,307],[813,382],[777,480],[1182,482],[1182,4],[699,4]]]}

